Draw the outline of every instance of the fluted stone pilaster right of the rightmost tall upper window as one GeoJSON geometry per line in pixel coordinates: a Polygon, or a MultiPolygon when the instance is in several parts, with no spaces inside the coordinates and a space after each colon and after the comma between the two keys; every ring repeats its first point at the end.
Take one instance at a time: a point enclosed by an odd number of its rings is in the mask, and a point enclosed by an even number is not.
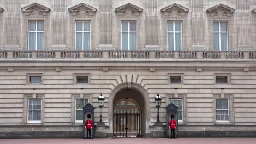
{"type": "Polygon", "coordinates": [[[250,8],[249,0],[237,0],[237,49],[238,50],[251,50],[250,43],[250,8]]]}

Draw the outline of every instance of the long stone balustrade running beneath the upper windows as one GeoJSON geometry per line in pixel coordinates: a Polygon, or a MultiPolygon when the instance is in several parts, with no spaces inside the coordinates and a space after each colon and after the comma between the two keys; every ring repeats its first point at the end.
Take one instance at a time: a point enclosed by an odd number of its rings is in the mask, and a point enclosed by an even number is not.
{"type": "Polygon", "coordinates": [[[0,51],[0,59],[256,59],[256,51],[0,51]]]}

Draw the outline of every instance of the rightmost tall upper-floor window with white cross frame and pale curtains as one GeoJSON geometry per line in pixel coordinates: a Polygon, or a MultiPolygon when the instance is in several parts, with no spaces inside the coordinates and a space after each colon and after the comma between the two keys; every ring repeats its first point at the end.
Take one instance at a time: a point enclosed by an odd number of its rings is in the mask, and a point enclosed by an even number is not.
{"type": "Polygon", "coordinates": [[[228,50],[227,22],[213,22],[213,50],[228,50]]]}

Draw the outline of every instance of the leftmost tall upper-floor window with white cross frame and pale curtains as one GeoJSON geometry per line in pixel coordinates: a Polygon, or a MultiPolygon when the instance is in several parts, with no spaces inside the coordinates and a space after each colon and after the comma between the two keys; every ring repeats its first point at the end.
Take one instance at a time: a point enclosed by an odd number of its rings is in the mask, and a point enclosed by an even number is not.
{"type": "Polygon", "coordinates": [[[43,50],[43,21],[29,21],[29,50],[43,50]]]}

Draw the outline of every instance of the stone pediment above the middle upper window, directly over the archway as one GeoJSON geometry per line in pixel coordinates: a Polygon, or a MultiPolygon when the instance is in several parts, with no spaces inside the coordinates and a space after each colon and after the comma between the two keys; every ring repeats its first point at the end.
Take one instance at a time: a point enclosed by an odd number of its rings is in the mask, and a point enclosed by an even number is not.
{"type": "Polygon", "coordinates": [[[115,9],[115,12],[117,12],[118,16],[123,16],[124,14],[139,16],[142,11],[142,8],[139,8],[131,3],[127,3],[115,9]]]}

